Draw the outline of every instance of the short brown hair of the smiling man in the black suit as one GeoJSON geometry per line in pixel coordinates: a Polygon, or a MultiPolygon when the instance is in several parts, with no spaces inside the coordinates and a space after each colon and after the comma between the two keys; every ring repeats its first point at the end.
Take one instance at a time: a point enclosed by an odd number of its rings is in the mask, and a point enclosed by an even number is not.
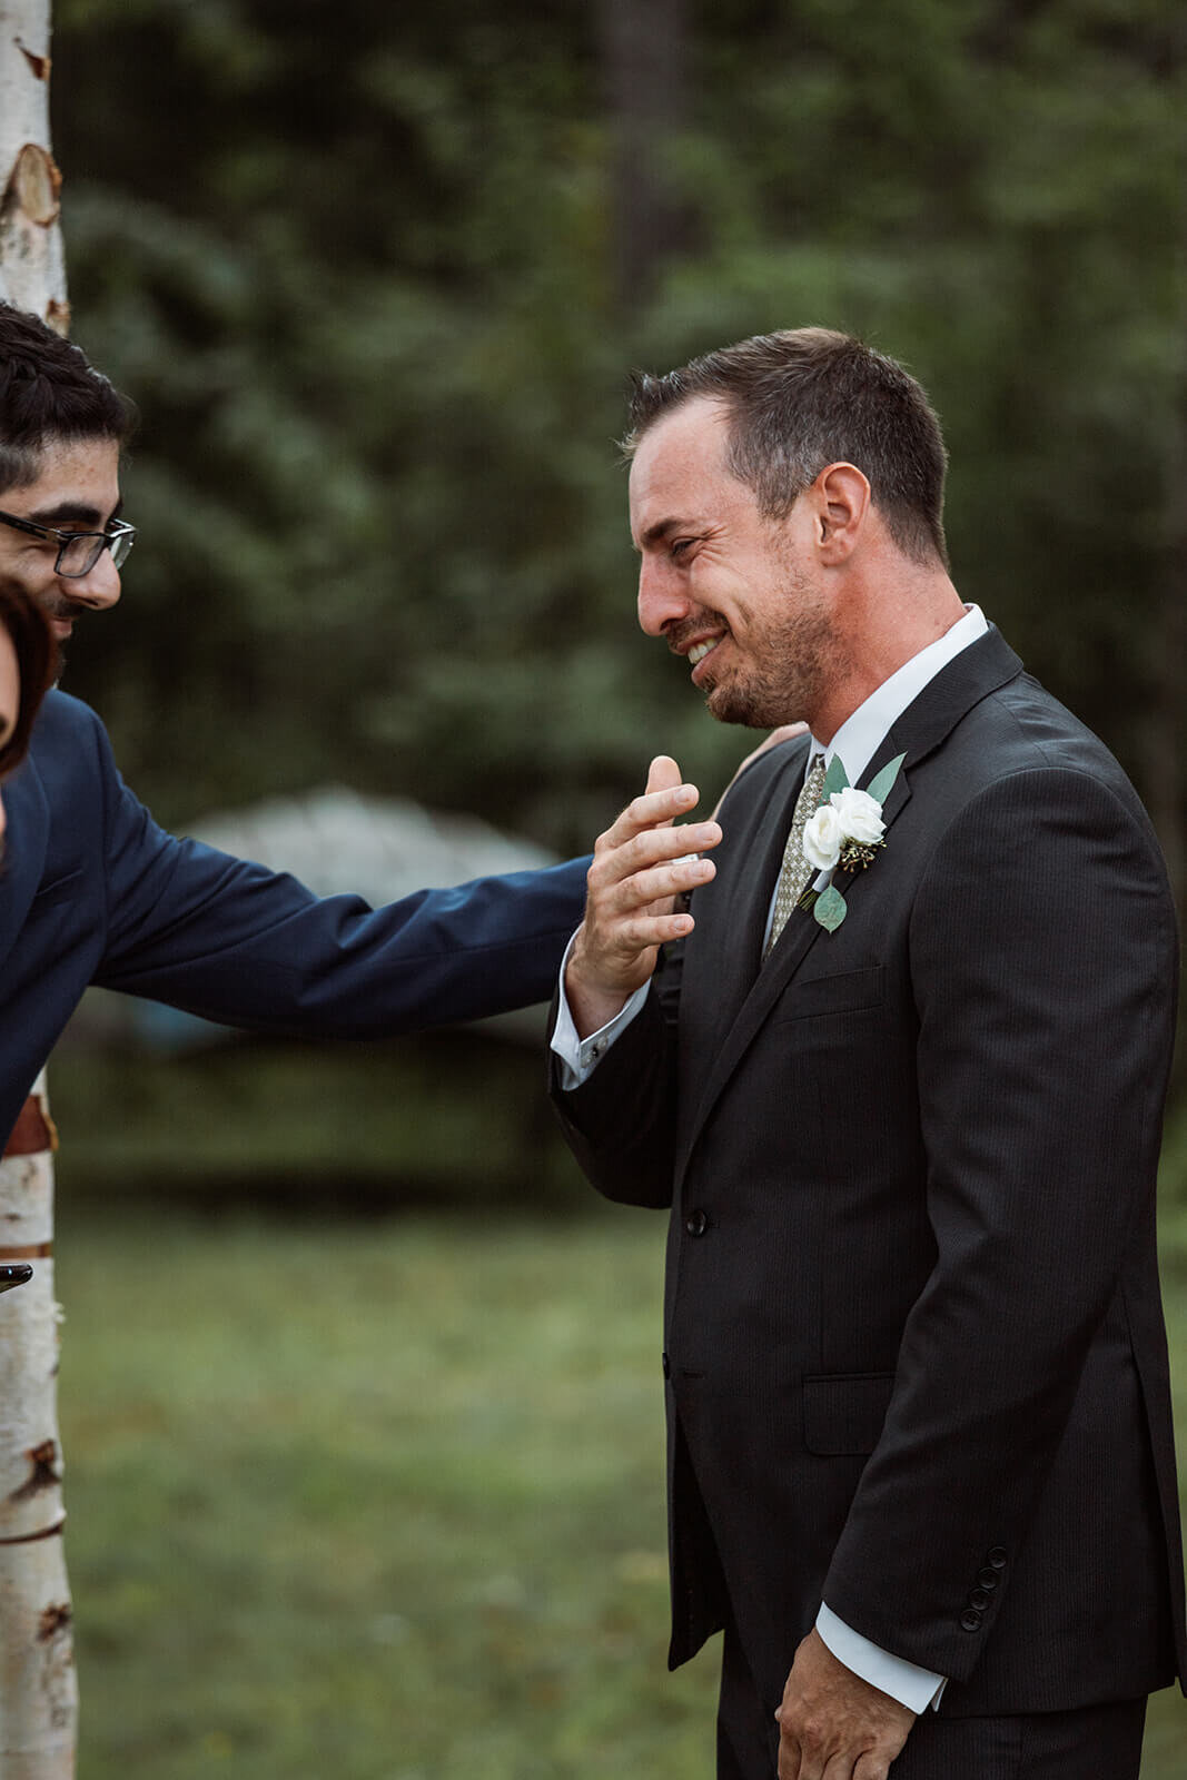
{"type": "Polygon", "coordinates": [[[664,377],[637,370],[625,454],[658,418],[701,395],[724,402],[726,466],[765,518],[787,518],[829,463],[852,463],[904,555],[947,568],[943,433],[924,390],[893,358],[829,328],[795,328],[707,352],[664,377]]]}

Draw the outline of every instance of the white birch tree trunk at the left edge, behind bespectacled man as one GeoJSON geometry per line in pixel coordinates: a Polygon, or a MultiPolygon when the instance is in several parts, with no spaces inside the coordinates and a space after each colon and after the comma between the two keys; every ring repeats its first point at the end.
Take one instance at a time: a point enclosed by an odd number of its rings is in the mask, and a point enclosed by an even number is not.
{"type": "MultiPolygon", "coordinates": [[[[50,0],[0,0],[0,295],[69,328],[50,153],[50,0]]],[[[0,1780],[69,1780],[78,1693],[62,1552],[53,1299],[53,1127],[44,1075],[0,1161],[0,1780]]]]}

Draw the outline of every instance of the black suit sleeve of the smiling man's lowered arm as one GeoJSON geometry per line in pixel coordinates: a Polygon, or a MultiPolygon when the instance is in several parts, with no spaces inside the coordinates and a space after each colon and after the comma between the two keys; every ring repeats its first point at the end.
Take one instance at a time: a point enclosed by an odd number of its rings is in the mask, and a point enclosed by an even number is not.
{"type": "Polygon", "coordinates": [[[936,1262],[824,1598],[938,1673],[970,1675],[1052,1468],[1098,1438],[1114,1399],[1089,1353],[1128,1363],[1125,1333],[1112,1358],[1096,1339],[1153,1218],[1175,975],[1153,835],[1089,774],[998,781],[925,870],[911,981],[936,1262]]]}

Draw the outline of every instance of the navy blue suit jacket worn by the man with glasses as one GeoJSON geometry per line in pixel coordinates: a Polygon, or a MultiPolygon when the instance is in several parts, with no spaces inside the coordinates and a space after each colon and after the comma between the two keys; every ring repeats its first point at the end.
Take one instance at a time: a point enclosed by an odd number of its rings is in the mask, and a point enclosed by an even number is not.
{"type": "Polygon", "coordinates": [[[89,983],[226,1025],[377,1038],[548,1000],[587,860],[372,911],[153,822],[93,710],[50,692],[4,787],[0,1146],[89,983]]]}

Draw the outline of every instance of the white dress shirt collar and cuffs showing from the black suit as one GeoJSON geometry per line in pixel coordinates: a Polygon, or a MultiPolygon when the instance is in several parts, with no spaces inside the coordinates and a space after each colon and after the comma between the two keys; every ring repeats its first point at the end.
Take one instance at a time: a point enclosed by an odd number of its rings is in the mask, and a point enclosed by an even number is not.
{"type": "MultiPolygon", "coordinates": [[[[911,660],[904,662],[888,680],[877,687],[876,692],[865,700],[863,705],[845,717],[840,730],[828,746],[812,739],[812,748],[808,749],[808,760],[804,762],[804,776],[817,755],[824,755],[826,765],[833,762],[835,755],[840,755],[845,767],[845,774],[851,785],[856,785],[870,760],[886,740],[893,723],[902,716],[908,705],[913,705],[924,687],[934,680],[941,668],[966,650],[970,643],[977,643],[979,637],[986,634],[989,625],[986,623],[981,607],[968,605],[965,616],[945,630],[941,637],[929,643],[925,650],[913,655],[911,660]]],[[[767,910],[767,933],[771,931],[771,920],[774,918],[774,894],[771,895],[771,908],[767,910]]],[[[557,1025],[552,1034],[552,1048],[561,1061],[561,1086],[566,1091],[580,1088],[584,1080],[589,1079],[598,1061],[605,1056],[614,1040],[623,1032],[630,1022],[635,1018],[642,1007],[648,988],[646,984],[630,997],[626,1006],[607,1022],[598,1032],[582,1040],[577,1036],[577,1027],[573,1025],[573,1015],[569,1011],[568,999],[564,995],[564,970],[569,961],[569,949],[573,942],[566,947],[564,959],[561,963],[561,1006],[557,1013],[557,1025]]],[[[872,1643],[863,1638],[861,1632],[854,1632],[852,1627],[838,1620],[836,1614],[820,1602],[820,1611],[817,1614],[817,1632],[820,1639],[828,1645],[833,1655],[860,1675],[868,1680],[874,1687],[881,1687],[893,1700],[909,1707],[913,1712],[922,1712],[929,1705],[940,1705],[940,1696],[947,1686],[947,1677],[934,1675],[931,1670],[918,1668],[915,1663],[908,1663],[904,1657],[892,1655],[892,1652],[883,1650],[881,1645],[872,1643]]]]}

